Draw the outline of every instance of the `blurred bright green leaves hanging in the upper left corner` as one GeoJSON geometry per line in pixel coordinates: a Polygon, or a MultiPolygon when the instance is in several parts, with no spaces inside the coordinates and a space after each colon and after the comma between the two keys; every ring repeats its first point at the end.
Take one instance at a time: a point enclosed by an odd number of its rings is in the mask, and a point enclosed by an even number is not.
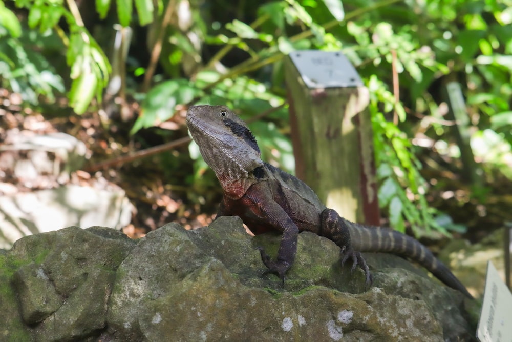
{"type": "MultiPolygon", "coordinates": [[[[112,6],[110,0],[96,0],[96,10],[104,18],[112,6]]],[[[117,0],[116,9],[119,23],[129,26],[132,21],[132,0],[117,0]]],[[[153,1],[135,0],[140,25],[153,21],[153,1]]],[[[70,68],[71,86],[68,89],[70,106],[78,114],[85,112],[93,98],[101,102],[103,90],[108,84],[111,65],[103,50],[84,26],[74,0],[0,0],[0,71],[5,85],[22,95],[22,98],[38,104],[38,95],[44,95],[50,102],[54,91],[63,93],[61,75],[50,65],[46,54],[53,47],[44,43],[49,39],[63,45],[66,63],[70,68]],[[20,11],[22,23],[11,8],[20,11]],[[14,6],[13,6],[14,5],[14,6]],[[22,30],[23,25],[23,30],[22,30]],[[66,30],[63,28],[66,27],[66,30]],[[41,44],[42,43],[42,44],[41,44]]],[[[55,50],[53,50],[55,51],[55,50]]]]}

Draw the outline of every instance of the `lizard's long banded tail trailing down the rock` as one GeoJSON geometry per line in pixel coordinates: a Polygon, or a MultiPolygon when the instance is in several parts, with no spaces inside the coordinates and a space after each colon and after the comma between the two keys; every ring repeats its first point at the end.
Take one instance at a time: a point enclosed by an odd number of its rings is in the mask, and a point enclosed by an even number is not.
{"type": "Polygon", "coordinates": [[[459,279],[428,248],[421,245],[414,238],[387,228],[365,227],[353,223],[348,226],[354,250],[392,253],[413,259],[447,286],[473,298],[459,279]]]}

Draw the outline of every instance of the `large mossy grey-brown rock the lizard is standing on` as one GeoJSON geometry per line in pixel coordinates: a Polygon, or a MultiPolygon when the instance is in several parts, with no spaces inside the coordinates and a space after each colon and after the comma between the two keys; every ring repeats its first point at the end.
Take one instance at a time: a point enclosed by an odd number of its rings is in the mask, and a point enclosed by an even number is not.
{"type": "Polygon", "coordinates": [[[283,287],[261,277],[238,217],[186,231],[168,224],[137,241],[109,228],[70,227],[0,252],[0,340],[471,340],[467,299],[407,261],[366,254],[374,284],[339,265],[339,248],[304,232],[283,287]]]}

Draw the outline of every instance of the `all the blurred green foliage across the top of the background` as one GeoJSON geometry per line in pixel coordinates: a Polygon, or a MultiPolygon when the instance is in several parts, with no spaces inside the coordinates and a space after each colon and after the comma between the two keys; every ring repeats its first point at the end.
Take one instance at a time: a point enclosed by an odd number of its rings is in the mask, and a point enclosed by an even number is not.
{"type": "MultiPolygon", "coordinates": [[[[62,92],[62,75],[45,56],[48,49],[31,48],[40,46],[34,41],[58,34],[73,80],[71,106],[82,113],[93,98],[101,101],[110,63],[69,6],[73,0],[68,6],[58,0],[14,4],[29,12],[20,24],[12,6],[0,2],[4,85],[32,102],[37,95],[52,98],[53,92],[62,92]]],[[[110,0],[95,4],[100,18],[112,17],[110,0]]],[[[440,95],[447,76],[464,90],[475,154],[512,179],[506,159],[512,146],[512,0],[279,0],[237,6],[206,0],[117,0],[115,5],[114,21],[130,25],[136,13],[138,23],[148,25],[150,53],[158,47],[155,32],[165,32],[162,71],[153,77],[153,88],[137,95],[143,98],[142,112],[132,133],[164,122],[177,106],[191,102],[226,104],[245,119],[269,111],[251,129],[264,157],[292,171],[288,114],[281,106],[286,103],[283,57],[300,49],[336,50],[349,57],[370,89],[378,196],[393,227],[404,230],[407,220],[413,227],[460,229],[426,204],[428,185],[419,173],[418,148],[411,144],[421,134],[439,149],[439,142],[453,146],[440,95]],[[169,7],[175,13],[170,24],[164,20],[169,7]],[[157,81],[161,79],[167,81],[157,81]],[[494,147],[501,152],[489,153],[494,147]]],[[[144,72],[139,67],[133,77],[144,72]]],[[[197,160],[192,179],[206,182],[197,148],[190,145],[189,150],[197,160]]]]}

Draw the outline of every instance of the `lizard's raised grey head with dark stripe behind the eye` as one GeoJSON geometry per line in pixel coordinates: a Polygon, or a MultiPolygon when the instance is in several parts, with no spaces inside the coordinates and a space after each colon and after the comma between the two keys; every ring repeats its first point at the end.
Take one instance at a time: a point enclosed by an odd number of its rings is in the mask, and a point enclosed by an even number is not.
{"type": "Polygon", "coordinates": [[[190,107],[187,127],[204,160],[216,173],[220,165],[229,162],[246,172],[263,164],[260,148],[251,131],[226,106],[190,107]]]}

